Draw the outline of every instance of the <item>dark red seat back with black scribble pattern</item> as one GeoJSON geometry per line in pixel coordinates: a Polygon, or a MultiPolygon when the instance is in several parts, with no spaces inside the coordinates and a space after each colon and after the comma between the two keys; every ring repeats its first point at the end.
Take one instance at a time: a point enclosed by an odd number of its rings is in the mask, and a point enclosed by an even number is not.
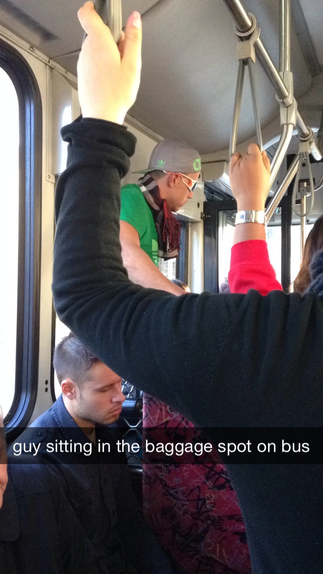
{"type": "MultiPolygon", "coordinates": [[[[174,429],[189,429],[195,439],[200,432],[161,401],[144,395],[144,441],[156,427],[170,440],[174,429]]],[[[219,458],[208,455],[197,464],[149,461],[144,449],[143,511],[174,566],[199,574],[250,574],[242,514],[219,458]]]]}

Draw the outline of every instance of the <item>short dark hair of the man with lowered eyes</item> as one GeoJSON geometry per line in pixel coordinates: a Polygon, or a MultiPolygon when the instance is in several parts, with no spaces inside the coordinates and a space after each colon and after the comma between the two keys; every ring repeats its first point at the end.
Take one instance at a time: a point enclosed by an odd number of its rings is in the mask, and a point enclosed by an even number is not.
{"type": "Polygon", "coordinates": [[[93,355],[83,343],[69,333],[56,345],[53,356],[53,366],[59,383],[71,379],[77,385],[85,381],[86,373],[100,359],[93,355]]]}

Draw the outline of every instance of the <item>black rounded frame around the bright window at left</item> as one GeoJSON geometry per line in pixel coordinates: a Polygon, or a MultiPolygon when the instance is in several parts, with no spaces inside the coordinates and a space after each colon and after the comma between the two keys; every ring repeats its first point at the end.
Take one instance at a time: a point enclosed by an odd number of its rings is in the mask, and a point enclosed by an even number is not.
{"type": "Polygon", "coordinates": [[[19,109],[19,235],[14,399],[5,416],[7,437],[26,426],[37,397],[40,333],[42,104],[24,57],[0,39],[0,67],[13,82],[19,109]]]}

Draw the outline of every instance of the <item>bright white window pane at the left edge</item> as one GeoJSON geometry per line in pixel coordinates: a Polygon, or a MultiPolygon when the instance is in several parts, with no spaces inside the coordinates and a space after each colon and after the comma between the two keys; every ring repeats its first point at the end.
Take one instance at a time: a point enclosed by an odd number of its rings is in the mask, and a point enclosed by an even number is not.
{"type": "Polygon", "coordinates": [[[14,84],[0,68],[0,250],[2,268],[2,311],[0,362],[2,384],[0,403],[3,416],[9,412],[15,390],[17,335],[18,223],[19,223],[19,110],[14,84]]]}

